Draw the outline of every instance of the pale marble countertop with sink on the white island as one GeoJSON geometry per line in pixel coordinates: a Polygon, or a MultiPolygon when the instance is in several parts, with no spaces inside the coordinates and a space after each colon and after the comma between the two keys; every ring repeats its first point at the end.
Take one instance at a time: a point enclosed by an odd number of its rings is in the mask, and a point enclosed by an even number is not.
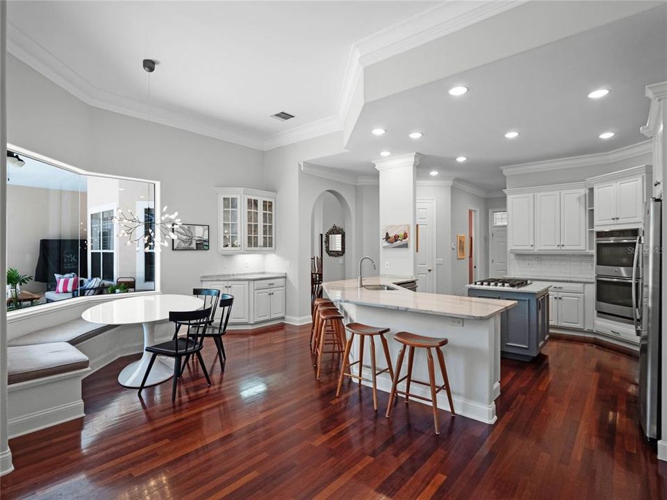
{"type": "Polygon", "coordinates": [[[516,301],[411,292],[395,285],[402,281],[405,281],[405,278],[368,276],[363,279],[364,285],[387,285],[393,290],[359,288],[356,279],[327,281],[322,283],[322,288],[334,302],[463,319],[489,319],[516,306],[516,301]]]}

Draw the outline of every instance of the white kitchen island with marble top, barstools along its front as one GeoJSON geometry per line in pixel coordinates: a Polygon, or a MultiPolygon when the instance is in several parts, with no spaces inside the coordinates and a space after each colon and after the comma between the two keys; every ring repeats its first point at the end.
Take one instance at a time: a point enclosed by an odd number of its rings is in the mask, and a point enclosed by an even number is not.
{"type": "MultiPolygon", "coordinates": [[[[386,338],[394,365],[402,347],[392,340],[394,333],[409,331],[449,339],[443,353],[456,414],[493,424],[497,418],[495,399],[500,395],[500,315],[516,306],[516,302],[411,292],[394,283],[395,278],[375,276],[365,278],[364,286],[386,285],[392,290],[359,288],[355,279],[323,283],[323,290],[343,313],[345,323],[391,328],[386,338]]],[[[354,360],[359,359],[358,349],[358,344],[352,347],[354,360]]],[[[364,359],[370,359],[368,356],[365,352],[364,359]]],[[[384,368],[383,361],[378,356],[378,369],[384,368]]],[[[364,376],[370,378],[370,369],[365,368],[364,376]]],[[[436,378],[440,380],[438,374],[436,378]]],[[[413,379],[429,379],[424,349],[415,351],[413,379]]],[[[343,387],[347,390],[349,385],[343,387]]],[[[378,376],[377,388],[390,391],[388,374],[378,376]]],[[[428,387],[413,384],[411,392],[430,398],[428,387]]],[[[444,394],[438,398],[438,408],[450,409],[444,394]]]]}

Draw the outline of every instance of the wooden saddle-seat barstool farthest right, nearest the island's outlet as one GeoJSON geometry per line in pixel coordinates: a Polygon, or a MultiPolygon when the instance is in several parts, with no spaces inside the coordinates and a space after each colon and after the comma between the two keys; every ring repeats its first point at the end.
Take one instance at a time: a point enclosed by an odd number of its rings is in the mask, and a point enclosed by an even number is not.
{"type": "Polygon", "coordinates": [[[447,367],[445,367],[445,356],[443,355],[443,351],[440,350],[440,347],[447,345],[447,342],[449,341],[446,338],[425,337],[423,335],[415,335],[414,333],[409,333],[409,332],[397,333],[396,335],[394,335],[394,340],[396,340],[397,342],[401,342],[401,344],[403,344],[403,347],[400,353],[398,354],[398,360],[396,361],[396,369],[393,375],[393,383],[391,385],[391,392],[389,394],[389,404],[387,406],[386,416],[387,418],[389,418],[389,414],[391,413],[391,408],[393,406],[396,394],[403,394],[405,396],[406,403],[408,402],[408,399],[410,397],[422,399],[423,401],[431,401],[431,403],[433,403],[433,422],[436,426],[436,434],[440,434],[440,428],[438,426],[438,400],[436,399],[437,397],[436,394],[438,394],[438,392],[440,392],[443,389],[445,390],[445,392],[447,392],[447,401],[449,401],[450,403],[450,413],[452,414],[452,417],[456,415],[456,412],[454,412],[454,401],[452,401],[452,391],[450,390],[450,381],[449,378],[447,378],[447,367]],[[406,347],[410,348],[408,354],[408,372],[406,376],[399,378],[401,375],[401,367],[403,365],[403,357],[405,355],[406,347]],[[429,365],[429,383],[412,379],[412,366],[413,366],[413,360],[415,358],[415,348],[426,349],[427,360],[429,365]],[[440,386],[436,385],[436,373],[434,370],[433,355],[431,354],[431,349],[436,350],[436,354],[438,356],[438,362],[440,364],[440,372],[442,372],[443,374],[443,385],[440,386]],[[398,390],[397,388],[398,384],[400,384],[402,381],[406,379],[407,382],[405,385],[405,391],[398,390]],[[410,392],[411,382],[431,387],[431,399],[418,396],[417,394],[412,394],[410,392]]]}

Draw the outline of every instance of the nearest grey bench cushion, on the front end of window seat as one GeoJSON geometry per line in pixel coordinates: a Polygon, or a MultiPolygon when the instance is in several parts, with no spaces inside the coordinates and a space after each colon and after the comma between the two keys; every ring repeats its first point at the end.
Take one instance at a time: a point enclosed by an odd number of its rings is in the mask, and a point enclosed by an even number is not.
{"type": "Polygon", "coordinates": [[[9,384],[75,372],[83,368],[88,368],[88,356],[67,342],[7,348],[9,384]]]}

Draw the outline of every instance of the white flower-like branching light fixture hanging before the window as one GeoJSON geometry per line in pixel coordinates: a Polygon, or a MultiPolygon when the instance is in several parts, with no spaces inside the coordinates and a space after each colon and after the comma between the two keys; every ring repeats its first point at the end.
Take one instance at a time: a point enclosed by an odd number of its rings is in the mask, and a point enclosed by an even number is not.
{"type": "Polygon", "coordinates": [[[160,251],[160,246],[167,246],[167,240],[176,240],[178,238],[176,236],[176,229],[182,225],[179,213],[167,213],[166,205],[162,209],[162,215],[159,220],[156,220],[152,215],[147,215],[142,220],[129,208],[127,210],[119,208],[113,218],[118,222],[120,228],[118,238],[127,238],[125,244],[135,244],[137,251],[140,251],[141,247],[143,247],[145,252],[153,249],[160,251]],[[158,247],[155,245],[156,231],[160,235],[160,246],[158,247]]]}

